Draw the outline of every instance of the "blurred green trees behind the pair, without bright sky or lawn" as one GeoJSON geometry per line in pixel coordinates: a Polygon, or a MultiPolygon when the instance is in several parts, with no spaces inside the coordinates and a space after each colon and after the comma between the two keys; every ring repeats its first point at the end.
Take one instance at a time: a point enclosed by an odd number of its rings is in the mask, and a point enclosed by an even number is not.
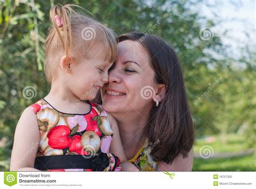
{"type": "MultiPolygon", "coordinates": [[[[214,33],[211,39],[202,40],[200,30],[212,29],[219,22],[201,17],[191,9],[203,2],[5,0],[0,2],[0,141],[6,137],[7,142],[0,146],[0,162],[10,158],[21,112],[48,93],[49,85],[43,72],[43,45],[50,26],[49,10],[55,3],[82,6],[118,35],[141,31],[164,38],[180,58],[196,137],[221,134],[225,143],[228,133],[239,130],[251,139],[246,140],[248,145],[255,145],[255,48],[245,46],[241,49],[242,57],[234,58],[221,42],[221,37],[225,36],[214,33]],[[209,90],[217,80],[217,85],[209,90]],[[25,86],[35,87],[35,98],[23,98],[25,86]],[[202,95],[204,98],[195,103],[202,95]]],[[[197,166],[197,160],[195,162],[197,166]]]]}

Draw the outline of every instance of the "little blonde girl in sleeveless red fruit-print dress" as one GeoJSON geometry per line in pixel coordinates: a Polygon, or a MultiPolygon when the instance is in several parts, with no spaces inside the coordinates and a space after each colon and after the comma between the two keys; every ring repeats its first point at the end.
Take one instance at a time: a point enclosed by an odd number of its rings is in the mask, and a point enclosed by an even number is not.
{"type": "Polygon", "coordinates": [[[50,10],[44,66],[49,94],[22,113],[10,171],[137,171],[127,163],[116,121],[89,100],[108,81],[116,37],[71,5],[50,10]]]}

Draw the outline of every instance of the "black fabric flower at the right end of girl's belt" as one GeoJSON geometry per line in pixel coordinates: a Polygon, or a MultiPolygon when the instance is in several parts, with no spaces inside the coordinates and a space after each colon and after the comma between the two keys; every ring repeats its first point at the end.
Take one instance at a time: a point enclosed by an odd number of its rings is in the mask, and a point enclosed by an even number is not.
{"type": "Polygon", "coordinates": [[[92,161],[92,171],[104,171],[108,166],[109,157],[103,152],[100,152],[98,157],[92,161]]]}

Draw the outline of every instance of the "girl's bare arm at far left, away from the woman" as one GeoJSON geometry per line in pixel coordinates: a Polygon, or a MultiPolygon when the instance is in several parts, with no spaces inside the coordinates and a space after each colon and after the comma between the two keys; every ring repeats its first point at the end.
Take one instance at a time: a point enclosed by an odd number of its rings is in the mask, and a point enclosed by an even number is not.
{"type": "Polygon", "coordinates": [[[39,129],[35,113],[27,107],[16,126],[10,171],[39,171],[34,167],[39,147],[39,129]]]}

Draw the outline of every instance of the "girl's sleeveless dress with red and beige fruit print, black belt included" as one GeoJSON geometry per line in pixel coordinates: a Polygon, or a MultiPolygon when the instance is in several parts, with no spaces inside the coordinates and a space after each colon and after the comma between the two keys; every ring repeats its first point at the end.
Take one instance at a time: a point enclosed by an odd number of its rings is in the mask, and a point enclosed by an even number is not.
{"type": "Polygon", "coordinates": [[[113,136],[101,105],[86,114],[56,110],[45,99],[30,105],[40,132],[35,168],[42,171],[120,171],[120,159],[109,153],[113,136]]]}

